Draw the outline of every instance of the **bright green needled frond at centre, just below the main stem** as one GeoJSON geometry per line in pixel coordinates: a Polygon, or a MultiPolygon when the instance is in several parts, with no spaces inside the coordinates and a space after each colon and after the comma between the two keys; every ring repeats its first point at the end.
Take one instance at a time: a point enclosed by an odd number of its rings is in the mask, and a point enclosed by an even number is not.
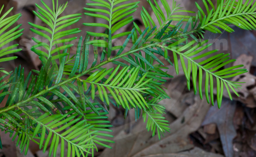
{"type": "Polygon", "coordinates": [[[112,97],[118,106],[121,105],[123,108],[128,108],[128,110],[131,107],[137,108],[137,106],[140,109],[146,109],[148,104],[141,93],[148,89],[144,87],[150,81],[150,79],[144,80],[147,74],[138,80],[139,67],[132,69],[130,67],[124,67],[117,73],[119,69],[120,65],[114,71],[113,69],[103,69],[102,71],[92,73],[86,80],[82,80],[86,88],[85,90],[87,90],[86,84],[90,84],[92,99],[94,100],[95,88],[97,88],[100,100],[102,102],[106,101],[108,105],[110,104],[109,97],[112,97]]]}

